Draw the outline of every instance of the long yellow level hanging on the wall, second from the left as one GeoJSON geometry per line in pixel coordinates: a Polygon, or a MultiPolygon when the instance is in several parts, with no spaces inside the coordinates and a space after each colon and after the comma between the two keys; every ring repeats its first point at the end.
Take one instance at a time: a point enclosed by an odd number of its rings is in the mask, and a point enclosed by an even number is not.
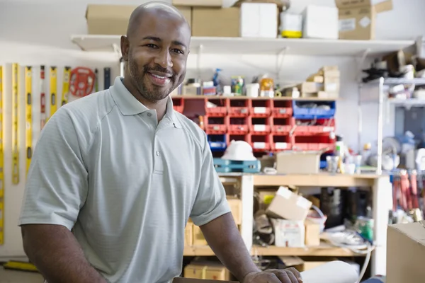
{"type": "Polygon", "coordinates": [[[12,183],[19,183],[19,143],[18,143],[18,110],[19,110],[19,71],[18,64],[12,64],[12,183]]]}

